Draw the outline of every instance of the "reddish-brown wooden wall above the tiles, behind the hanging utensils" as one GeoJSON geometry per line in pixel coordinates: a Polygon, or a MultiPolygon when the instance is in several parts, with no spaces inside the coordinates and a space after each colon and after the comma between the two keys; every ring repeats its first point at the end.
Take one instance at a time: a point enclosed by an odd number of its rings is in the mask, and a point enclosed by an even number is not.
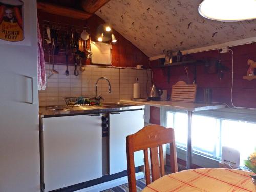
{"type": "MultiPolygon", "coordinates": [[[[44,20],[48,20],[51,22],[59,22],[68,25],[76,25],[82,27],[89,27],[91,31],[92,41],[96,41],[96,31],[100,24],[104,24],[104,20],[102,20],[97,15],[93,15],[88,20],[79,20],[73,19],[69,17],[63,17],[59,15],[49,14],[38,10],[38,20],[40,24],[40,30],[42,33],[42,23],[44,20]]],[[[144,65],[148,67],[148,57],[140,51],[137,47],[135,47],[130,41],[125,39],[120,33],[117,31],[113,31],[117,42],[116,44],[112,44],[112,65],[116,67],[136,67],[136,65],[144,65]]],[[[47,55],[47,54],[46,54],[47,55]]],[[[49,57],[45,57],[46,62],[48,62],[49,57]]],[[[65,56],[55,57],[55,62],[65,63],[65,56]],[[59,60],[58,60],[59,59],[59,60]]],[[[87,64],[89,64],[87,62],[87,64]]]]}

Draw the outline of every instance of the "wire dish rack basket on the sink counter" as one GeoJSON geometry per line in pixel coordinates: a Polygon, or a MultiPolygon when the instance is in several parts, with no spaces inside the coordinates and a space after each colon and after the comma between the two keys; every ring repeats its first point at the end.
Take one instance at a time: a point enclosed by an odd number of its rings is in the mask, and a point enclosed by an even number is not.
{"type": "Polygon", "coordinates": [[[100,97],[64,97],[67,106],[100,105],[100,97]]]}

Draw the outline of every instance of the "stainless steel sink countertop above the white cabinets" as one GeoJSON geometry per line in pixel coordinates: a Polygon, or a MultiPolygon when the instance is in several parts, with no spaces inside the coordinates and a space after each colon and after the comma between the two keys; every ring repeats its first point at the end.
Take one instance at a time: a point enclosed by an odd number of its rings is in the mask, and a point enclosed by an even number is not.
{"type": "Polygon", "coordinates": [[[58,106],[58,108],[63,108],[65,110],[54,110],[49,109],[49,106],[40,106],[39,115],[41,117],[58,117],[58,116],[70,116],[70,115],[86,115],[86,114],[96,114],[96,113],[108,113],[116,111],[130,111],[137,109],[144,109],[144,104],[131,104],[132,106],[115,106],[106,107],[104,104],[102,106],[58,106]]]}

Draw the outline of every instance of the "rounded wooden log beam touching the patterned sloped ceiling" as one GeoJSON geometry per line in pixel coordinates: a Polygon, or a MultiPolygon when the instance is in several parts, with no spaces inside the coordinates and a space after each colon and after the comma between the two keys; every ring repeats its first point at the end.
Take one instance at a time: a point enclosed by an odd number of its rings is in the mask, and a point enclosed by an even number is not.
{"type": "Polygon", "coordinates": [[[95,13],[109,1],[110,0],[82,0],[81,5],[84,11],[88,13],[95,13]]]}

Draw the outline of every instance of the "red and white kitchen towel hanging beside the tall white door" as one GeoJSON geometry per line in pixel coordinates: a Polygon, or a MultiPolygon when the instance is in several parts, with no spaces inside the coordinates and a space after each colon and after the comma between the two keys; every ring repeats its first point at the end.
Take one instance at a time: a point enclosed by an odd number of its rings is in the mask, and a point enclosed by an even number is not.
{"type": "Polygon", "coordinates": [[[37,18],[37,86],[38,90],[46,89],[46,68],[44,59],[44,49],[42,48],[42,37],[37,18]]]}

